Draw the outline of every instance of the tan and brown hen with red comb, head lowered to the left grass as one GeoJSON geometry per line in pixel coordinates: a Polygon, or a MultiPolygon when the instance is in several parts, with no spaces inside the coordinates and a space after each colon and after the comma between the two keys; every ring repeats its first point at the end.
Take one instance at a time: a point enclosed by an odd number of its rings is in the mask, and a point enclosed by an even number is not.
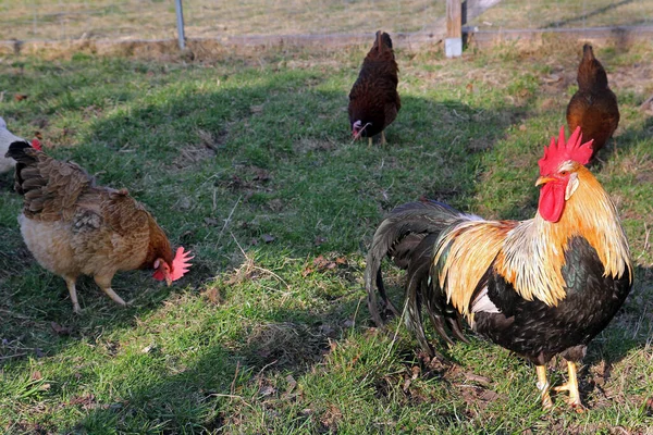
{"type": "Polygon", "coordinates": [[[115,302],[124,300],[111,288],[118,271],[155,269],[153,277],[168,285],[189,268],[180,247],[173,258],[163,229],[126,190],[96,186],[77,164],[61,162],[26,141],[10,145],[16,161],[15,190],[25,197],[19,215],[29,251],[47,270],[63,277],[73,310],[81,310],[75,283],[90,275],[115,302]]]}

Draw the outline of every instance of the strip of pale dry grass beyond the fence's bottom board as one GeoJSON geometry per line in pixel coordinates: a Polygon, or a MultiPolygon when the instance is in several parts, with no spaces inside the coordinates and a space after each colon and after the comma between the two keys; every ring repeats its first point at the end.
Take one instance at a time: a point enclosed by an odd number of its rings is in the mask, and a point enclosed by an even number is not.
{"type": "MultiPolygon", "coordinates": [[[[481,30],[653,25],[653,0],[468,0],[481,30]]],[[[441,32],[446,0],[184,0],[187,38],[441,32]]],[[[173,39],[174,0],[3,0],[0,40],[173,39]]]]}

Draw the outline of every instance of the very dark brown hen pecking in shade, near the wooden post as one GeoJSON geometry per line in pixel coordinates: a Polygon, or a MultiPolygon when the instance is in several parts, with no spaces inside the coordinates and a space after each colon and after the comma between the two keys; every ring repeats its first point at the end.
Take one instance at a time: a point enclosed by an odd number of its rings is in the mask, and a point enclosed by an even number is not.
{"type": "Polygon", "coordinates": [[[397,94],[397,73],[392,39],[386,33],[377,32],[372,49],[362,61],[362,66],[349,92],[349,126],[354,139],[369,138],[381,133],[381,144],[385,144],[383,129],[397,117],[402,108],[397,94]]]}

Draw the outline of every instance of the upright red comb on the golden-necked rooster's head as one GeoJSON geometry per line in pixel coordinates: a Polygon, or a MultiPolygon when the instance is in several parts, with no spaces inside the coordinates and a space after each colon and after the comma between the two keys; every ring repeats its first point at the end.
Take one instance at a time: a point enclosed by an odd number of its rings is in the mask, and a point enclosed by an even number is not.
{"type": "Polygon", "coordinates": [[[565,126],[560,127],[557,145],[555,137],[551,138],[551,145],[544,147],[544,157],[538,161],[540,175],[551,174],[559,167],[560,163],[569,160],[580,164],[588,164],[592,158],[592,144],[594,139],[581,145],[582,134],[580,127],[576,127],[569,140],[565,140],[565,126]]]}

